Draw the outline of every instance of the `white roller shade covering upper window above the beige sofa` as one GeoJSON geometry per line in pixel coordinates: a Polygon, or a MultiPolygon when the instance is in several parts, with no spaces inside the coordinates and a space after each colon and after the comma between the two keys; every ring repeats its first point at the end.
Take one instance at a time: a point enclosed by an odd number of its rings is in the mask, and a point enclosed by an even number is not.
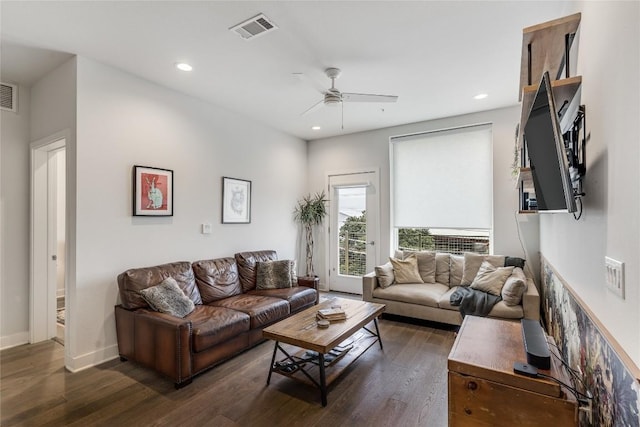
{"type": "Polygon", "coordinates": [[[491,125],[391,138],[393,224],[491,228],[491,125]]]}

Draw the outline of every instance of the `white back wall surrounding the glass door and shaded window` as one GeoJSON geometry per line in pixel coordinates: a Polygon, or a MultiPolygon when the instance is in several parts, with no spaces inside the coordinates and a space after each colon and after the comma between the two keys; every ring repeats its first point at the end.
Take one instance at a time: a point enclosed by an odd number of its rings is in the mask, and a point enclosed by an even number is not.
{"type": "MultiPolygon", "coordinates": [[[[328,172],[351,171],[359,168],[380,168],[380,229],[381,257],[386,259],[391,248],[389,224],[389,138],[415,132],[459,127],[478,123],[492,123],[493,131],[493,252],[524,257],[518,239],[515,212],[518,209],[518,191],[511,177],[515,127],[520,120],[517,106],[467,114],[457,117],[414,123],[410,125],[379,129],[370,132],[321,139],[309,143],[309,190],[325,188],[328,172]]],[[[469,171],[473,179],[473,171],[469,171]]],[[[446,183],[441,183],[446,185],[446,183]]],[[[464,195],[461,195],[464,197],[464,195]]],[[[520,232],[526,243],[528,262],[537,269],[538,219],[531,215],[517,216],[520,232]]],[[[326,283],[328,264],[325,262],[325,240],[318,239],[314,261],[321,283],[326,283]]],[[[535,270],[534,270],[535,271],[535,270]]]]}

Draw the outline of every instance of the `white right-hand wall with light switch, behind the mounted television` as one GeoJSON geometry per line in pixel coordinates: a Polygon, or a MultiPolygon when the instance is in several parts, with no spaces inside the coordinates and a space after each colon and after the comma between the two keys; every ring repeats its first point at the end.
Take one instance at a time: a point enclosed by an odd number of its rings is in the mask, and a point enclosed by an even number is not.
{"type": "Polygon", "coordinates": [[[542,254],[640,365],[640,4],[583,2],[577,74],[587,111],[582,219],[545,215],[542,254]],[[625,263],[626,296],[607,291],[604,258],[625,263]]]}

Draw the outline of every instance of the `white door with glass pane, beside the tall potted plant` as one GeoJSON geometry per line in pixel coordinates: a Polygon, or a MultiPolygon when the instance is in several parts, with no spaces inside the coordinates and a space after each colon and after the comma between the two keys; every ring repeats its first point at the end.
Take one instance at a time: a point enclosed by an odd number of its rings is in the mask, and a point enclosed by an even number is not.
{"type": "Polygon", "coordinates": [[[378,258],[377,171],[329,176],[329,290],[362,294],[378,258]]]}

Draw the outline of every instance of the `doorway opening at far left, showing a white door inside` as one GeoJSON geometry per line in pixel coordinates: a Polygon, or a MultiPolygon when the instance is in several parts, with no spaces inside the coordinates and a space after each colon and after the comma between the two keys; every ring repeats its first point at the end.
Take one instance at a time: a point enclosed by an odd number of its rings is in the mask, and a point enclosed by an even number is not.
{"type": "Polygon", "coordinates": [[[66,141],[31,144],[31,343],[65,342],[66,141]]]}

